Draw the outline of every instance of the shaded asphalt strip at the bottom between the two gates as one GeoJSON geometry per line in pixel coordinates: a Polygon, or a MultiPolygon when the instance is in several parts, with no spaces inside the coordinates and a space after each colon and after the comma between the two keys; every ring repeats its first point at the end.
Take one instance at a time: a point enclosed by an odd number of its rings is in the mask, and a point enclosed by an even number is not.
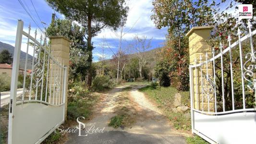
{"type": "MultiPolygon", "coordinates": [[[[82,132],[82,135],[83,132],[82,132]]],[[[78,136],[72,133],[66,144],[186,144],[181,136],[137,134],[123,131],[109,131],[78,136]]]]}

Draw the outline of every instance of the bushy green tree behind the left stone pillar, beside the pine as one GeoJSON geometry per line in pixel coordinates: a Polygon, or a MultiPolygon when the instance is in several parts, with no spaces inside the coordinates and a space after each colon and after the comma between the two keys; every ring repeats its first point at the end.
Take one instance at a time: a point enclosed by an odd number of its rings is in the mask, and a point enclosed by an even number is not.
{"type": "Polygon", "coordinates": [[[85,28],[74,24],[71,20],[56,20],[46,29],[48,36],[65,36],[71,40],[70,45],[70,68],[69,78],[74,80],[81,75],[81,80],[85,80],[89,63],[86,62],[88,54],[85,52],[87,44],[84,40],[85,28]]]}

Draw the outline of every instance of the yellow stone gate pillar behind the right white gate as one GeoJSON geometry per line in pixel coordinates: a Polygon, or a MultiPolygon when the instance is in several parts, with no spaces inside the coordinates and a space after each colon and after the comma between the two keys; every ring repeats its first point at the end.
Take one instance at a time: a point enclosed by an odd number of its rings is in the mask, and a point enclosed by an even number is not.
{"type": "MultiPolygon", "coordinates": [[[[186,34],[186,36],[188,36],[189,38],[190,64],[194,65],[195,62],[198,64],[200,62],[200,57],[202,58],[201,59],[202,62],[206,61],[206,53],[208,55],[208,60],[212,58],[212,48],[207,44],[207,39],[209,39],[210,31],[212,30],[213,27],[214,26],[196,26],[190,29],[190,31],[186,34]]],[[[191,88],[193,89],[193,94],[192,94],[193,105],[195,109],[202,110],[201,68],[197,67],[196,70],[193,69],[192,73],[193,73],[191,74],[192,78],[190,80],[192,80],[192,84],[194,85],[191,88]],[[195,93],[196,90],[197,90],[197,95],[195,93]]],[[[206,65],[204,65],[202,66],[202,76],[205,75],[206,73],[207,73],[206,65]]],[[[210,75],[213,74],[211,63],[208,63],[208,74],[210,75]]],[[[203,81],[204,81],[204,77],[203,77],[203,81]]],[[[210,95],[210,97],[212,98],[213,95],[210,95]]],[[[208,110],[207,98],[204,98],[203,104],[204,104],[203,110],[207,111],[208,110]]],[[[210,101],[210,111],[214,111],[214,100],[210,101]]]]}

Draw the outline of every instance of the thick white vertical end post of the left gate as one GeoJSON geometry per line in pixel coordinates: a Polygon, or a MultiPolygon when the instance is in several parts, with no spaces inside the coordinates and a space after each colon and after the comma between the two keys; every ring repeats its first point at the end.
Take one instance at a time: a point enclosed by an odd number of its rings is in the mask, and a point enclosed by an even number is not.
{"type": "Polygon", "coordinates": [[[17,81],[19,74],[20,65],[20,53],[23,33],[23,21],[18,20],[15,48],[13,54],[13,65],[12,65],[12,81],[11,81],[11,96],[10,96],[10,108],[9,108],[9,125],[8,125],[8,144],[12,144],[12,123],[14,121],[15,107],[16,107],[16,95],[17,95],[17,81]]]}

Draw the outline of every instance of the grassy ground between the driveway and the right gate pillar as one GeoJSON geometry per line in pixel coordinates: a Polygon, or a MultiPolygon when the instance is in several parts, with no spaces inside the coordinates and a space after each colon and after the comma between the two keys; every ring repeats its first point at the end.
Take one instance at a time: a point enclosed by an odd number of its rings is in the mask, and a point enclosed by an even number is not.
{"type": "Polygon", "coordinates": [[[174,87],[158,87],[154,84],[147,85],[139,91],[146,93],[146,95],[156,101],[158,108],[163,109],[165,115],[172,121],[173,127],[178,130],[191,130],[190,114],[176,113],[172,111],[174,95],[180,93],[182,95],[183,106],[190,106],[189,92],[178,91],[174,87]]]}

